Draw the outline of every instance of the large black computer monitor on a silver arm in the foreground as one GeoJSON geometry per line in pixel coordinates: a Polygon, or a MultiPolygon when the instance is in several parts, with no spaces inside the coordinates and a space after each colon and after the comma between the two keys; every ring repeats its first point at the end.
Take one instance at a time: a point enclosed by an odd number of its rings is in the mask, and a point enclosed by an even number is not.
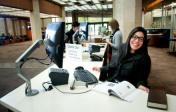
{"type": "Polygon", "coordinates": [[[51,61],[62,68],[64,52],[65,23],[49,23],[46,29],[44,44],[51,61]]]}

